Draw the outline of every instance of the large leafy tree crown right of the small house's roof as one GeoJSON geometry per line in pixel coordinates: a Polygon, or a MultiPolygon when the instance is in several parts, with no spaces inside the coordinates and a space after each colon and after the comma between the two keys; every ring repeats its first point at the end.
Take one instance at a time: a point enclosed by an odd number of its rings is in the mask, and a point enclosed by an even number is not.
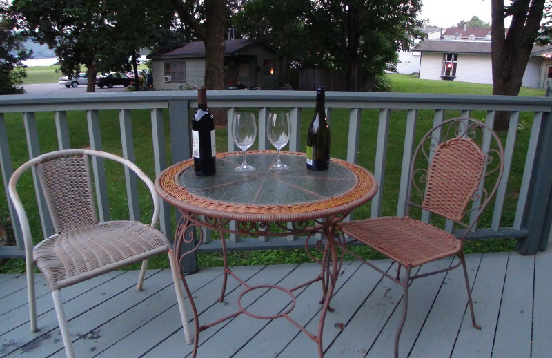
{"type": "Polygon", "coordinates": [[[261,36],[290,66],[344,72],[348,89],[393,70],[397,50],[419,36],[420,0],[252,0],[233,19],[246,36],[261,36]],[[275,15],[277,14],[277,15],[275,15]],[[362,76],[361,76],[362,75],[362,76]]]}

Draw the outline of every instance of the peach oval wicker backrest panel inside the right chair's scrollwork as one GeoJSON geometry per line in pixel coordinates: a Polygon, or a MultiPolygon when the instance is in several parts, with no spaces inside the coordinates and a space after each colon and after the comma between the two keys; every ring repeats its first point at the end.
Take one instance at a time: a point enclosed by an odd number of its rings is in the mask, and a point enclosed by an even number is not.
{"type": "Polygon", "coordinates": [[[471,138],[456,137],[438,145],[422,208],[450,220],[462,220],[483,177],[485,158],[471,138]]]}

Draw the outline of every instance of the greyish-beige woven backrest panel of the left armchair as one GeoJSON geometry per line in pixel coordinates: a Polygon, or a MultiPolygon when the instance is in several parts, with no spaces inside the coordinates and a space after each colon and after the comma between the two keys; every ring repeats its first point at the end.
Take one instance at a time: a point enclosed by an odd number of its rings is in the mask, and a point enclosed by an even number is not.
{"type": "Polygon", "coordinates": [[[39,162],[37,175],[56,233],[98,222],[88,156],[39,162]]]}

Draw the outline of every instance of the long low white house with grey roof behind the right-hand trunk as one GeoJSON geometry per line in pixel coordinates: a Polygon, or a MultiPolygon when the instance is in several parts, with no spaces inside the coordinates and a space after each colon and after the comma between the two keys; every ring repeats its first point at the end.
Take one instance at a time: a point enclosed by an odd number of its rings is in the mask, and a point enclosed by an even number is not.
{"type": "MultiPolygon", "coordinates": [[[[493,83],[491,41],[426,40],[421,52],[420,78],[428,80],[493,83]]],[[[524,87],[545,89],[552,81],[552,47],[535,46],[523,76],[524,87]]]]}

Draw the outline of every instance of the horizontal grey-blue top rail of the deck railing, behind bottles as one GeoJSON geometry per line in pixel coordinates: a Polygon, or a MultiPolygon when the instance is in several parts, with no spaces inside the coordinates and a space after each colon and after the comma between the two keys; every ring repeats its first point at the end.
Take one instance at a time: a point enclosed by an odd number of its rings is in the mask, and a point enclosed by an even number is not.
{"type": "MultiPolygon", "coordinates": [[[[208,91],[210,107],[314,107],[313,91],[208,91]]],[[[152,91],[0,96],[0,112],[166,108],[168,101],[190,101],[197,106],[195,91],[152,91]]],[[[549,112],[551,97],[379,92],[326,92],[332,108],[481,109],[549,112]]]]}

